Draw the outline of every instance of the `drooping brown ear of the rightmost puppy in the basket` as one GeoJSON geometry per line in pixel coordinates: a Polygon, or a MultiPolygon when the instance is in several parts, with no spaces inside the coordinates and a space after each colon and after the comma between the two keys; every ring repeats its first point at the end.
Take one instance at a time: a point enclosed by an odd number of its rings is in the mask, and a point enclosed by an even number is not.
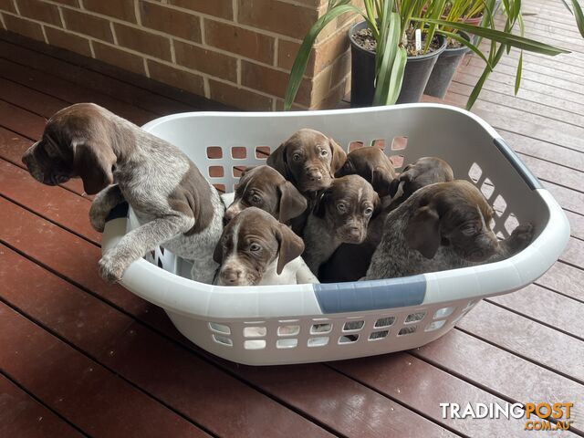
{"type": "Polygon", "coordinates": [[[440,246],[440,216],[433,207],[421,207],[405,228],[405,240],[426,258],[433,258],[440,246]]]}

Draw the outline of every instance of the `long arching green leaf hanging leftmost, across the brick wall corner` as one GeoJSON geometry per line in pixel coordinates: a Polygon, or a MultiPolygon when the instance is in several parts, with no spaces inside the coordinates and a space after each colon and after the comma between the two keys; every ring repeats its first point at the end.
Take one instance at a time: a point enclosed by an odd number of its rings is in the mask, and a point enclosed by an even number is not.
{"type": "Polygon", "coordinates": [[[314,41],[317,39],[320,31],[325,26],[327,26],[328,23],[342,14],[352,12],[354,14],[362,15],[358,7],[354,5],[347,5],[346,3],[347,2],[344,1],[333,5],[326,14],[318,18],[317,22],[312,27],[310,27],[307,36],[304,37],[300,48],[298,48],[298,53],[296,55],[296,59],[294,60],[294,65],[290,70],[286,94],[284,96],[284,110],[289,110],[292,107],[292,103],[294,103],[294,99],[296,99],[298,89],[302,83],[302,77],[304,76],[304,72],[307,69],[310,50],[312,50],[314,41]]]}

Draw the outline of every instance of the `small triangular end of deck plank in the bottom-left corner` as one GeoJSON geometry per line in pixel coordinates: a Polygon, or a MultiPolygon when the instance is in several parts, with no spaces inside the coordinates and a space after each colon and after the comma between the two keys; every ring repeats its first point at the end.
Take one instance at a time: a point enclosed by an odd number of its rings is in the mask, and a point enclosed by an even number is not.
{"type": "Polygon", "coordinates": [[[75,438],[84,436],[0,374],[0,436],[75,438]]]}

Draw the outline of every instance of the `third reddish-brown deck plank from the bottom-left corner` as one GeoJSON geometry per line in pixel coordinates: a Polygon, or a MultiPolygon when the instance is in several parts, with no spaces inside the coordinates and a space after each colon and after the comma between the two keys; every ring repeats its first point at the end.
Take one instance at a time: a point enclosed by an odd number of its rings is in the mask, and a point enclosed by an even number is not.
{"type": "Polygon", "coordinates": [[[2,253],[2,297],[11,306],[205,429],[219,436],[328,436],[9,248],[2,253]]]}

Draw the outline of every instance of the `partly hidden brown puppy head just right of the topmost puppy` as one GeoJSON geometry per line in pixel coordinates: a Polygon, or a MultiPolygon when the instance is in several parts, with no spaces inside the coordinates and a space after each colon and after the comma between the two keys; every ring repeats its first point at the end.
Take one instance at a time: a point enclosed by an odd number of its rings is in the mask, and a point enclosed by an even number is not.
{"type": "Polygon", "coordinates": [[[376,147],[364,147],[349,152],[347,160],[335,173],[335,177],[352,174],[364,178],[380,197],[389,193],[391,183],[398,176],[389,157],[376,147]]]}

